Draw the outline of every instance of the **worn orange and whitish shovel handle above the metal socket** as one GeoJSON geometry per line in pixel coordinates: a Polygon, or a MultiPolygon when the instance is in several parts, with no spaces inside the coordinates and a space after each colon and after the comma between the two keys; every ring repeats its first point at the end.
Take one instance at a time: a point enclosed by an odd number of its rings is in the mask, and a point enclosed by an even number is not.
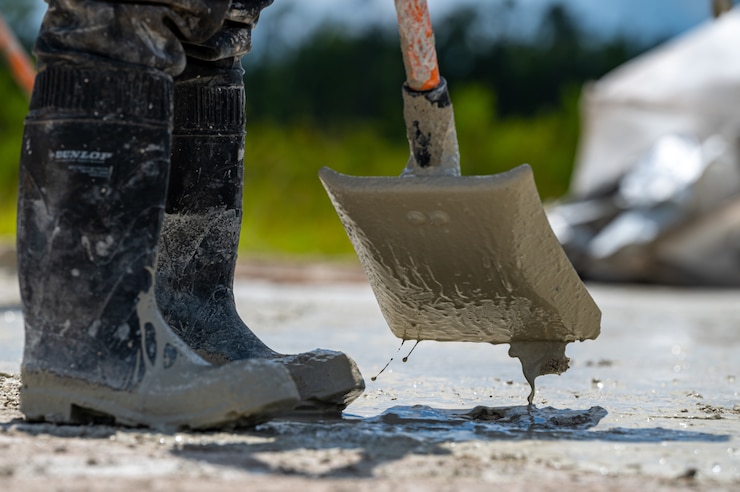
{"type": "Polygon", "coordinates": [[[434,46],[434,31],[426,0],[395,0],[406,83],[416,91],[429,91],[441,80],[434,46]]]}

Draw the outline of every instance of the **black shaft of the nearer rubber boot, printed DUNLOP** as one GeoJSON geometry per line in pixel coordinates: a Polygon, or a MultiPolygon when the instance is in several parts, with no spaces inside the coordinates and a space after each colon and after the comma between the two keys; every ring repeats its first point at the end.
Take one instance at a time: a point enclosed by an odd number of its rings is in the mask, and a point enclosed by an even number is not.
{"type": "Polygon", "coordinates": [[[42,64],[20,167],[24,363],[117,386],[140,377],[146,330],[136,305],[152,282],[171,118],[172,79],[162,72],[42,64]]]}

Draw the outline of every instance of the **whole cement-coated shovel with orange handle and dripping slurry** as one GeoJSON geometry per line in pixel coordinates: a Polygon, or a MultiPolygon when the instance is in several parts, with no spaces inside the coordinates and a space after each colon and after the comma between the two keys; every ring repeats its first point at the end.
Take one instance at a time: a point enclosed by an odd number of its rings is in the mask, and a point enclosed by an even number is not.
{"type": "Polygon", "coordinates": [[[400,177],[319,177],[380,309],[402,340],[509,343],[534,379],[568,368],[566,344],[601,312],[555,237],[532,170],[460,176],[447,83],[425,0],[396,0],[411,156],[400,177]]]}

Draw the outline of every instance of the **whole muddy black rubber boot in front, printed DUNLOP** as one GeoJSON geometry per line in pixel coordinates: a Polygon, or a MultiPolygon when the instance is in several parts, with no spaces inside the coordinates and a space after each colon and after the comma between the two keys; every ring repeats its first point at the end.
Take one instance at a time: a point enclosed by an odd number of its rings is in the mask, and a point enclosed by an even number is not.
{"type": "Polygon", "coordinates": [[[20,170],[21,411],[171,429],[291,410],[298,393],[281,364],[208,364],[156,306],[172,78],[108,61],[41,61],[20,170]]]}

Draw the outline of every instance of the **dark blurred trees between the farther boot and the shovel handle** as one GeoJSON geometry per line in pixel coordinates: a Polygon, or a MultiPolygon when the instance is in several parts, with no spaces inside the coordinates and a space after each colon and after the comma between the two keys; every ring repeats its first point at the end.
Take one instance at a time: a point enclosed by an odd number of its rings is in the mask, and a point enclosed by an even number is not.
{"type": "Polygon", "coordinates": [[[368,120],[382,127],[400,115],[403,64],[392,31],[379,26],[351,35],[323,25],[279,58],[251,65],[246,57],[245,68],[248,114],[262,120],[329,129],[368,120]]]}

